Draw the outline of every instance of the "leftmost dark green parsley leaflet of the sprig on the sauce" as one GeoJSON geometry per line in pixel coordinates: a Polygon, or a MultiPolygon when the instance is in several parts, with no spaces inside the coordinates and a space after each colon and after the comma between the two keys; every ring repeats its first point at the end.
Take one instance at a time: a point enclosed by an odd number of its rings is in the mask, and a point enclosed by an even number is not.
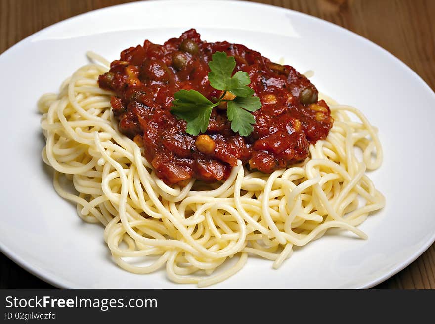
{"type": "Polygon", "coordinates": [[[171,112],[187,122],[187,133],[198,135],[207,131],[210,115],[216,104],[196,90],[176,92],[172,104],[171,112]]]}

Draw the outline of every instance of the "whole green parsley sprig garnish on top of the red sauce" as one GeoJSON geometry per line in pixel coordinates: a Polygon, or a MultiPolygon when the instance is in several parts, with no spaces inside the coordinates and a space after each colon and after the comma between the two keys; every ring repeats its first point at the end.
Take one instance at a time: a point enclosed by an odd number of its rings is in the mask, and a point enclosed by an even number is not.
{"type": "Polygon", "coordinates": [[[234,57],[227,56],[225,52],[216,52],[212,55],[212,61],[209,62],[211,71],[208,74],[210,85],[223,91],[216,103],[196,90],[180,90],[174,94],[171,112],[187,122],[187,133],[205,133],[213,107],[221,102],[227,102],[226,114],[231,121],[231,129],[239,132],[241,136],[251,134],[255,119],[249,111],[260,109],[261,102],[259,97],[253,96],[254,90],[248,87],[251,83],[248,73],[238,71],[232,75],[235,66],[234,57]],[[223,99],[226,92],[236,97],[233,100],[223,99]]]}

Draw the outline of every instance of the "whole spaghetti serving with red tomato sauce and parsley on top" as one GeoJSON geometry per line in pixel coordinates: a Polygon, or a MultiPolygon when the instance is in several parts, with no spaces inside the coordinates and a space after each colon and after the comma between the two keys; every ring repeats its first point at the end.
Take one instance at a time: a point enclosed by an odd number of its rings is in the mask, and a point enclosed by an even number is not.
{"type": "Polygon", "coordinates": [[[121,268],[203,287],[249,255],[278,268],[330,228],[367,237],[357,226],[385,204],[366,175],[377,129],[307,76],[194,29],[88,56],[39,101],[42,156],[121,268]]]}

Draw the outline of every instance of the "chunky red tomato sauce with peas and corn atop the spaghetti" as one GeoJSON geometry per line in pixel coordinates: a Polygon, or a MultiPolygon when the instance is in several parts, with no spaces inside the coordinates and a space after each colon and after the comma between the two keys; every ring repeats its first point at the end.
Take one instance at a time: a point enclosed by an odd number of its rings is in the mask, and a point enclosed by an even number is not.
{"type": "Polygon", "coordinates": [[[143,147],[167,184],[224,180],[237,160],[264,173],[288,167],[308,157],[309,144],[325,139],[333,124],[317,89],[293,67],[273,63],[244,45],[202,41],[194,29],[163,45],[145,40],[143,46],[122,51],[98,82],[114,92],[111,104],[119,130],[143,147]],[[186,122],[170,109],[181,89],[197,90],[214,102],[222,95],[207,77],[216,51],[235,58],[233,73],[249,74],[249,86],[262,106],[253,112],[254,131],[247,137],[231,130],[224,105],[213,108],[206,134],[214,146],[204,153],[195,144],[198,137],[187,134],[186,122]]]}

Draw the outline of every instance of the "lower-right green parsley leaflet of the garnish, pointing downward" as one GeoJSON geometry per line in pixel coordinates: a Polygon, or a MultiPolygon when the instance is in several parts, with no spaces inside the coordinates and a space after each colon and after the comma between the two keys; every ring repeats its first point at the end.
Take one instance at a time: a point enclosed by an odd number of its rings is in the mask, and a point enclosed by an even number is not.
{"type": "Polygon", "coordinates": [[[236,97],[228,102],[226,114],[231,121],[233,132],[239,132],[241,136],[248,136],[254,130],[251,124],[255,124],[254,116],[249,111],[260,109],[261,102],[259,97],[236,97]],[[246,111],[245,109],[249,110],[246,111]]]}

